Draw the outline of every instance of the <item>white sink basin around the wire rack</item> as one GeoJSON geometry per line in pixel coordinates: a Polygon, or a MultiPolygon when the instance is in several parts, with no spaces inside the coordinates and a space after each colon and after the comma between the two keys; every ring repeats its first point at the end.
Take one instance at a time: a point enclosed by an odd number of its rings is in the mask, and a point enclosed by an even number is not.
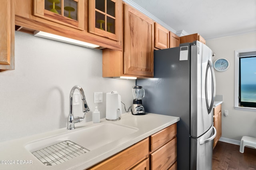
{"type": "MultiPolygon", "coordinates": [[[[41,150],[44,151],[45,149],[47,150],[47,148],[56,146],[56,144],[62,142],[66,143],[66,141],[68,141],[67,145],[74,143],[74,145],[81,147],[83,153],[86,153],[136,131],[138,131],[138,129],[133,127],[126,127],[113,123],[100,123],[88,127],[78,127],[74,130],[67,130],[65,133],[59,135],[36,140],[27,144],[25,148],[34,154],[37,151],[41,152],[41,150]]],[[[57,152],[58,154],[59,150],[54,152],[57,152]]],[[[38,158],[38,156],[36,157],[38,158]]],[[[43,163],[48,165],[47,162],[43,163]]]]}

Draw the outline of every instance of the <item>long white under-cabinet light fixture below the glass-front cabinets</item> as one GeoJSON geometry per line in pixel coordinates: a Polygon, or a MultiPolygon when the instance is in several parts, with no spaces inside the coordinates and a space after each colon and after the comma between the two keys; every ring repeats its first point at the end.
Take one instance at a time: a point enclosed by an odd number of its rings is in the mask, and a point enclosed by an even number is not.
{"type": "Polygon", "coordinates": [[[66,37],[58,36],[58,35],[55,35],[55,34],[50,34],[50,33],[47,33],[47,32],[42,32],[42,31],[34,31],[34,36],[47,38],[47,39],[50,39],[50,40],[56,40],[56,41],[59,41],[59,42],[79,45],[79,46],[87,47],[87,48],[99,47],[99,45],[95,45],[95,44],[92,44],[92,43],[82,42],[82,41],[79,41],[79,40],[74,40],[72,38],[66,38],[66,37]]]}

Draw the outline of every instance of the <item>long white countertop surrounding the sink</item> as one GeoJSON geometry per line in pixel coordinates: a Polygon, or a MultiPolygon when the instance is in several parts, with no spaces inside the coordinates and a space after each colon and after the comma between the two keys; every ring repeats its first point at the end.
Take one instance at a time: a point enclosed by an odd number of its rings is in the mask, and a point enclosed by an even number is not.
{"type": "MultiPolygon", "coordinates": [[[[0,143],[0,169],[4,170],[82,170],[101,162],[102,160],[128,148],[132,144],[178,122],[179,117],[172,117],[166,115],[158,115],[147,113],[146,115],[132,115],[131,113],[122,114],[119,121],[107,121],[101,119],[100,123],[113,123],[116,125],[123,125],[128,127],[138,128],[138,131],[122,137],[114,142],[110,142],[104,146],[91,150],[76,158],[72,158],[66,162],[58,165],[46,166],[40,162],[25,146],[32,141],[47,138],[58,134],[69,132],[66,128],[36,134],[16,140],[10,140],[0,143]]],[[[98,123],[97,123],[98,124],[98,123]]],[[[92,127],[96,124],[92,122],[76,123],[74,130],[79,128],[92,127]]],[[[111,132],[110,132],[111,133],[111,132]]],[[[81,136],[84,140],[90,140],[90,136],[81,136]]]]}

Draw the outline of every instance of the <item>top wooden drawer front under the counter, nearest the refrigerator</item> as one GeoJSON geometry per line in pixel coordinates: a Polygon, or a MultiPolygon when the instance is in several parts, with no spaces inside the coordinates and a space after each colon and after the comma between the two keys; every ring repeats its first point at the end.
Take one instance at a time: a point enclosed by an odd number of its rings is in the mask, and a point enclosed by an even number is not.
{"type": "Polygon", "coordinates": [[[177,123],[150,136],[150,151],[154,152],[177,134],[177,123]]]}

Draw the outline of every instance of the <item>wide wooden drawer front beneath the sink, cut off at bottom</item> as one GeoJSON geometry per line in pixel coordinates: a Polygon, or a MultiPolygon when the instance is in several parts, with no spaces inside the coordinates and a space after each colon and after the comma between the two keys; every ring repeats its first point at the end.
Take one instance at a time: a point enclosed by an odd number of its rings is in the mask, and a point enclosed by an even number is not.
{"type": "Polygon", "coordinates": [[[119,152],[103,162],[89,168],[89,170],[123,170],[130,169],[142,160],[148,158],[149,139],[146,138],[137,144],[119,152]]]}

